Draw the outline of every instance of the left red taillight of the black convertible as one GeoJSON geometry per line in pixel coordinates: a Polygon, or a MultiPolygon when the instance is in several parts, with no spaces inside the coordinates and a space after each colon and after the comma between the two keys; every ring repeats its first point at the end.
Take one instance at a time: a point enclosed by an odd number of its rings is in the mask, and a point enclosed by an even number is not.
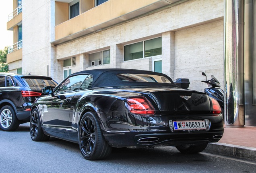
{"type": "Polygon", "coordinates": [[[128,109],[134,114],[154,115],[155,109],[145,97],[129,97],[126,99],[128,109]]]}

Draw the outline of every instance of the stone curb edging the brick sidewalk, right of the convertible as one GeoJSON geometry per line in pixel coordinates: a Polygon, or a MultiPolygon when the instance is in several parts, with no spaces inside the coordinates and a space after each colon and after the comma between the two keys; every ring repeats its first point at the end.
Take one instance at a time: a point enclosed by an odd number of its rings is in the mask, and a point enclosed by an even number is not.
{"type": "Polygon", "coordinates": [[[225,143],[209,143],[203,152],[256,162],[256,148],[252,147],[225,143]]]}

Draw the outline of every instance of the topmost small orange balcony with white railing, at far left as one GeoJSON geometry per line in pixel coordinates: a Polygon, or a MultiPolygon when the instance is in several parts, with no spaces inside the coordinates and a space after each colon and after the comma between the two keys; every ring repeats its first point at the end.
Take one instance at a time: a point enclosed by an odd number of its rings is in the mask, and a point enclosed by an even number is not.
{"type": "Polygon", "coordinates": [[[13,27],[22,22],[22,4],[8,15],[7,30],[13,30],[13,27]]]}

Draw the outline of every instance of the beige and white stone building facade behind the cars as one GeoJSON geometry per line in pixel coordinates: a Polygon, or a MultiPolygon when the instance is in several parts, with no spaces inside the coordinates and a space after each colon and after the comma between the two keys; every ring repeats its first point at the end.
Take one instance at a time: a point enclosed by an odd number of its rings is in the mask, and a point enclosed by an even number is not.
{"type": "MultiPolygon", "coordinates": [[[[21,0],[13,2],[18,9],[21,0]]],[[[20,4],[22,11],[7,23],[14,35],[22,26],[22,48],[7,56],[10,72],[41,74],[60,82],[81,70],[133,68],[163,72],[172,79],[189,78],[189,89],[202,92],[207,87],[201,82],[205,72],[209,77],[214,74],[224,89],[223,0],[23,0],[20,4]]],[[[256,126],[255,113],[245,113],[245,125],[256,126]]]]}

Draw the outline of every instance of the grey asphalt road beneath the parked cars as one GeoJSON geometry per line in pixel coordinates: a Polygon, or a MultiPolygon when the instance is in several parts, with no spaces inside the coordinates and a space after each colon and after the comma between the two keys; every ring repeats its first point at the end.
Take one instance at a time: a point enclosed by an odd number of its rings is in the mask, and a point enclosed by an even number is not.
{"type": "Polygon", "coordinates": [[[114,149],[108,159],[87,161],[78,144],[51,137],[34,142],[29,123],[0,130],[0,173],[256,173],[256,163],[206,153],[184,155],[174,147],[114,149]]]}

